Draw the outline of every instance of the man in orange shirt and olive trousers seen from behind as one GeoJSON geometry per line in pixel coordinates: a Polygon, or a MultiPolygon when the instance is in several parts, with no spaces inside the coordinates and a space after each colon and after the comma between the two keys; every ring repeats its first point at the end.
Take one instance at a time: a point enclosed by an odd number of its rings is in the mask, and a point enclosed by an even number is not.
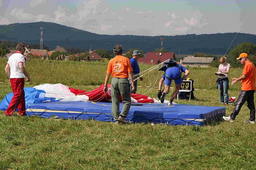
{"type": "Polygon", "coordinates": [[[109,60],[107,75],[105,77],[104,92],[108,91],[108,79],[112,73],[111,81],[111,98],[112,98],[112,115],[116,123],[126,123],[125,117],[128,115],[128,112],[131,107],[131,94],[130,94],[130,83],[128,76],[132,83],[132,88],[134,89],[134,82],[132,77],[132,66],[130,60],[123,54],[123,46],[115,45],[114,54],[116,57],[109,60]],[[123,100],[123,109],[120,114],[119,112],[119,96],[122,95],[123,100]]]}

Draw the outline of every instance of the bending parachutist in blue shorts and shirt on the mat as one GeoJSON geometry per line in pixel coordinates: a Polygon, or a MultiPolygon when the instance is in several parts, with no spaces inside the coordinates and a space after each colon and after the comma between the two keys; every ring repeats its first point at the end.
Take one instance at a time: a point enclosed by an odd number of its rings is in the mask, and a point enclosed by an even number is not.
{"type": "Polygon", "coordinates": [[[172,92],[170,102],[168,103],[168,105],[173,106],[172,101],[178,95],[179,90],[180,90],[180,84],[184,79],[186,79],[188,74],[189,74],[188,69],[181,66],[180,64],[178,64],[178,66],[169,67],[166,69],[165,74],[160,79],[159,86],[158,86],[157,97],[160,99],[161,103],[164,103],[164,98],[165,98],[166,94],[169,93],[171,82],[172,82],[172,80],[174,80],[175,90],[172,92]],[[185,74],[181,78],[182,72],[185,74]],[[162,89],[163,81],[164,81],[164,92],[162,94],[161,89],[162,89]]]}

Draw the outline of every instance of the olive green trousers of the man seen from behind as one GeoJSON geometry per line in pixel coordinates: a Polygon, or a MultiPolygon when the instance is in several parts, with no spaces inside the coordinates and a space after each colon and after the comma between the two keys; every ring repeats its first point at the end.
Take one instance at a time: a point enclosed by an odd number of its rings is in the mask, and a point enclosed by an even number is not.
{"type": "Polygon", "coordinates": [[[119,114],[126,117],[131,107],[130,83],[128,78],[112,77],[111,81],[112,115],[117,120],[119,114]],[[119,96],[122,95],[123,109],[119,112],[119,96]]]}

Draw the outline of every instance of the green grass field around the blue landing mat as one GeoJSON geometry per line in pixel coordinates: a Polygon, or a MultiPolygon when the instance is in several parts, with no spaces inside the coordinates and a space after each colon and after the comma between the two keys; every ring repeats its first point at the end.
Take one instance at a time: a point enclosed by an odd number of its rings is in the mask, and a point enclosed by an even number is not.
{"type": "MultiPolygon", "coordinates": [[[[0,59],[0,99],[11,92],[0,59]]],[[[104,82],[108,63],[29,60],[26,69],[34,83],[62,83],[90,90],[104,82]]],[[[150,65],[141,65],[145,70],[150,65]]],[[[217,68],[189,68],[196,100],[177,103],[220,105],[217,68]]],[[[138,93],[156,98],[162,73],[153,71],[138,82],[138,93]],[[146,87],[151,88],[146,88],[146,87]]],[[[229,77],[242,69],[231,68],[229,77]]],[[[174,85],[172,84],[172,87],[174,85]]],[[[230,86],[238,97],[241,83],[230,86]]],[[[168,100],[170,95],[167,95],[168,100]]],[[[226,115],[234,105],[226,106],[226,115]]],[[[204,127],[162,124],[116,125],[108,122],[5,117],[0,111],[0,169],[256,169],[256,126],[246,104],[234,123],[213,122],[204,127]]]]}

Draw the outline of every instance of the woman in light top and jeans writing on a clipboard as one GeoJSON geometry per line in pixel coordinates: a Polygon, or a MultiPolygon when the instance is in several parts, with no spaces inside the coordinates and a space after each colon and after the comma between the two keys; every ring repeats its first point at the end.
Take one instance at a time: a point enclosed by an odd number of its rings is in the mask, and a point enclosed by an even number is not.
{"type": "Polygon", "coordinates": [[[220,57],[220,66],[218,74],[224,74],[219,75],[217,79],[218,89],[220,91],[220,103],[224,105],[228,104],[228,73],[230,70],[230,64],[227,63],[227,59],[225,57],[220,57]],[[225,99],[225,101],[224,101],[225,99]]]}

